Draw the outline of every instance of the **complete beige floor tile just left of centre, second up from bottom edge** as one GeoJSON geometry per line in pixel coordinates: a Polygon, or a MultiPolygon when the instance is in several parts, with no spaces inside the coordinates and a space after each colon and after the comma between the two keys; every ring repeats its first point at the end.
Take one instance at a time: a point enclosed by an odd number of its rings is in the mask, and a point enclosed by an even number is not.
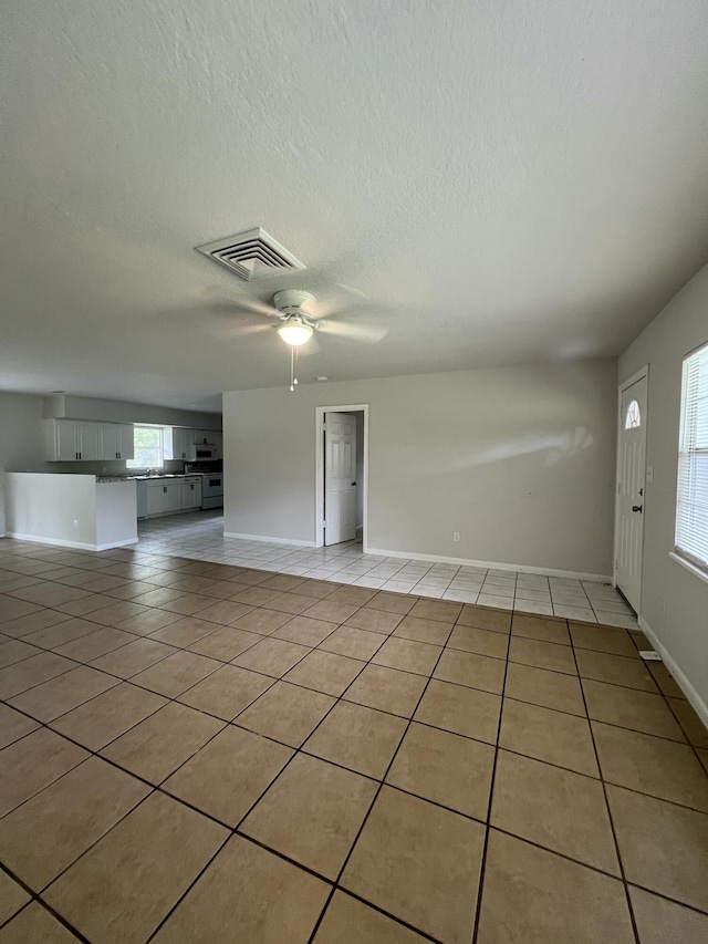
{"type": "Polygon", "coordinates": [[[299,754],[246,818],[241,831],[335,879],[376,789],[374,780],[299,754]]]}

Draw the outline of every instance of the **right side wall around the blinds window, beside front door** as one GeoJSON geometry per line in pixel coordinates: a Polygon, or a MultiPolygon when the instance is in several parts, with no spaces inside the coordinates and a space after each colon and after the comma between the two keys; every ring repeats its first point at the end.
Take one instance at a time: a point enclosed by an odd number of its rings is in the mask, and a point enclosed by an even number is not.
{"type": "Polygon", "coordinates": [[[620,359],[620,381],[649,365],[647,481],[641,616],[708,705],[708,583],[669,558],[674,550],[681,366],[708,342],[708,266],[620,359]]]}

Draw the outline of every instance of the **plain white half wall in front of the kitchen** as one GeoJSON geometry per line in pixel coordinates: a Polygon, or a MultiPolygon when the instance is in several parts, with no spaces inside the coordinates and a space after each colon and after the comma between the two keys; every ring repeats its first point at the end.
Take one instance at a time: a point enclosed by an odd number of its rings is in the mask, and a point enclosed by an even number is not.
{"type": "Polygon", "coordinates": [[[6,473],[6,535],[88,551],[136,544],[135,489],[131,479],[6,473]]]}

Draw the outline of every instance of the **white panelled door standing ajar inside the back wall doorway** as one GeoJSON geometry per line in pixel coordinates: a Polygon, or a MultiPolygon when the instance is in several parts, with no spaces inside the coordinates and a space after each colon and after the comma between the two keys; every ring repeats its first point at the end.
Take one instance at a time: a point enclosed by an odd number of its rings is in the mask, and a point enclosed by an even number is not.
{"type": "Polygon", "coordinates": [[[356,537],[356,417],[324,416],[324,543],[356,537]]]}

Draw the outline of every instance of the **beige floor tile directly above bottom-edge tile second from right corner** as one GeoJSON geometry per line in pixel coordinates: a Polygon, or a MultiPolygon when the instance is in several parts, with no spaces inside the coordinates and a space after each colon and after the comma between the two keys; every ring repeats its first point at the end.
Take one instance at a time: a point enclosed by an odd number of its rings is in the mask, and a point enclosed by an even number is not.
{"type": "Polygon", "coordinates": [[[553,852],[620,874],[598,780],[500,750],[490,821],[553,852]]]}

